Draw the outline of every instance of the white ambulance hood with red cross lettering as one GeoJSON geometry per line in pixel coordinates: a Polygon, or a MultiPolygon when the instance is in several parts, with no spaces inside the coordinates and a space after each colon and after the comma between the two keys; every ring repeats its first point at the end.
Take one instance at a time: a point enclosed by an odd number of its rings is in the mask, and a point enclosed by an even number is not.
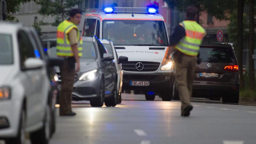
{"type": "Polygon", "coordinates": [[[115,45],[115,47],[125,47],[125,49],[116,49],[118,57],[125,56],[128,57],[129,61],[151,61],[162,63],[164,55],[167,50],[167,46],[120,46],[115,45]],[[165,48],[164,50],[149,50],[149,47],[154,48],[165,48]]]}

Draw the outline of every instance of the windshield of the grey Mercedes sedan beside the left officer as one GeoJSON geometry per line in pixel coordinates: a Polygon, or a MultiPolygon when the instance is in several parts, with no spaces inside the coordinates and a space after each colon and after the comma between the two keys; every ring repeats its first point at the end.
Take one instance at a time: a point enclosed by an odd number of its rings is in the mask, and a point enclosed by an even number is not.
{"type": "Polygon", "coordinates": [[[83,42],[82,59],[95,59],[97,56],[93,42],[83,42]]]}

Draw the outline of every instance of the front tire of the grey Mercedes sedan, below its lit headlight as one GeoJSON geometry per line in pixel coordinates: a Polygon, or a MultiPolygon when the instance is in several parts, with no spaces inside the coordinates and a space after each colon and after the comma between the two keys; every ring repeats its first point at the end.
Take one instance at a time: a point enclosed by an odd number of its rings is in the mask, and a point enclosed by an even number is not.
{"type": "Polygon", "coordinates": [[[104,104],[104,99],[105,99],[105,86],[104,86],[104,82],[101,81],[99,97],[97,99],[90,100],[90,104],[92,107],[102,107],[104,104]]]}

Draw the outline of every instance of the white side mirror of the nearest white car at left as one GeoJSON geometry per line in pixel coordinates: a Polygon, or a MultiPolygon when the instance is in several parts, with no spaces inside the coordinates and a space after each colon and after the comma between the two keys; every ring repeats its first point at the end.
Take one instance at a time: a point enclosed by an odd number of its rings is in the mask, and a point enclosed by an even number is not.
{"type": "Polygon", "coordinates": [[[37,58],[28,58],[24,62],[24,65],[23,70],[41,69],[44,66],[44,61],[37,58]]]}

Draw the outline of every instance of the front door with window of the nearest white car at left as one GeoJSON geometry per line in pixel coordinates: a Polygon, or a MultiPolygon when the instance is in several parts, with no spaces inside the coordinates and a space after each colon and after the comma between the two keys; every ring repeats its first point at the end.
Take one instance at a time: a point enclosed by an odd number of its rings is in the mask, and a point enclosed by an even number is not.
{"type": "Polygon", "coordinates": [[[25,61],[28,58],[36,58],[38,55],[25,30],[18,32],[21,69],[25,74],[23,86],[25,87],[27,126],[36,125],[42,121],[44,106],[42,105],[43,68],[25,69],[25,61]]]}

